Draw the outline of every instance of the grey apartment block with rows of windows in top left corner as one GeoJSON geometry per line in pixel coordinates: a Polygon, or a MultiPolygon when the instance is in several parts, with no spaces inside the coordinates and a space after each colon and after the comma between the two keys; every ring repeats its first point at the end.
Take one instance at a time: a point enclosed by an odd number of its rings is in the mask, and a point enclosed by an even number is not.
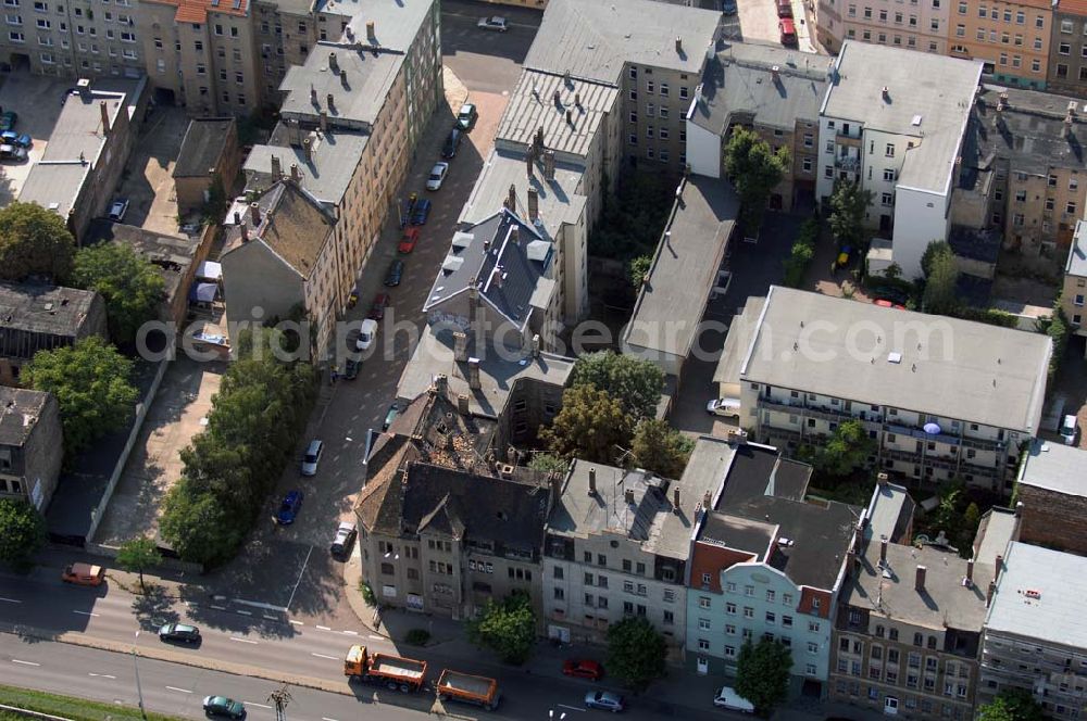
{"type": "Polygon", "coordinates": [[[138,78],[143,72],[133,0],[4,0],[3,11],[0,58],[12,67],[60,77],[138,78]]]}

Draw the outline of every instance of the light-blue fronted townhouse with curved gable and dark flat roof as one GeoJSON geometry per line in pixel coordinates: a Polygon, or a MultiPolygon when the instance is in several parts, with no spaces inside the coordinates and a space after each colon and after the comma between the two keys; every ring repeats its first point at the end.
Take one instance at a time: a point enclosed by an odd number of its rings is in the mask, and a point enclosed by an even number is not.
{"type": "Polygon", "coordinates": [[[748,641],[792,653],[790,693],[825,694],[830,628],[860,508],[804,498],[811,466],[776,448],[699,439],[684,472],[713,479],[696,517],[687,589],[687,659],[735,675],[748,641]]]}

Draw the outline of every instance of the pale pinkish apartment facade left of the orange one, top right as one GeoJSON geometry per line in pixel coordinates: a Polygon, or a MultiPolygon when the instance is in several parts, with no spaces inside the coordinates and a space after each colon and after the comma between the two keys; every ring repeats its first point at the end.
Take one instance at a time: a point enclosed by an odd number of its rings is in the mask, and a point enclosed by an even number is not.
{"type": "Polygon", "coordinates": [[[951,0],[819,0],[815,33],[832,53],[846,40],[861,40],[944,55],[951,5],[951,0]]]}

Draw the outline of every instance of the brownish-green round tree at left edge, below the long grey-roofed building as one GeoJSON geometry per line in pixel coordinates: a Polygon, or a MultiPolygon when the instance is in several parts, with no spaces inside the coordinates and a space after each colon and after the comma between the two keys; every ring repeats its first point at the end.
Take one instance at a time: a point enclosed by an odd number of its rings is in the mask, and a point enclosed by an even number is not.
{"type": "Polygon", "coordinates": [[[61,216],[37,203],[0,210],[0,278],[45,276],[63,281],[72,270],[75,239],[61,216]]]}

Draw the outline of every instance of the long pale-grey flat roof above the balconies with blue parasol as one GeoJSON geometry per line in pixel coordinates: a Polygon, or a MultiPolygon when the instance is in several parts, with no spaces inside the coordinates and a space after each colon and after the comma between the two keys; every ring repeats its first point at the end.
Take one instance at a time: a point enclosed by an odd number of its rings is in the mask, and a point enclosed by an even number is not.
{"type": "Polygon", "coordinates": [[[1040,333],[772,286],[740,377],[1034,434],[1051,352],[1040,333]]]}

